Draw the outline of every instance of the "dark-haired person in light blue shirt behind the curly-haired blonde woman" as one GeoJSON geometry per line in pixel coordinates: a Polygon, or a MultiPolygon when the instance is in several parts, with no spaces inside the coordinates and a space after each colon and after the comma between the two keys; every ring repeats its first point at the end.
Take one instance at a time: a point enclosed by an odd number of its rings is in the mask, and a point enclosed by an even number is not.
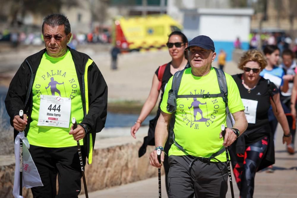
{"type": "MultiPolygon", "coordinates": [[[[264,55],[266,56],[267,65],[266,67],[260,72],[260,76],[264,77],[265,79],[270,80],[273,82],[277,88],[286,93],[289,89],[289,81],[286,79],[285,72],[282,68],[278,67],[279,61],[279,48],[276,45],[266,45],[263,49],[264,55]]],[[[268,109],[268,120],[271,128],[271,132],[273,134],[273,139],[275,142],[276,137],[276,129],[277,129],[277,118],[274,116],[272,108],[268,109]]],[[[273,167],[269,166],[266,170],[267,172],[274,172],[273,167]]]]}

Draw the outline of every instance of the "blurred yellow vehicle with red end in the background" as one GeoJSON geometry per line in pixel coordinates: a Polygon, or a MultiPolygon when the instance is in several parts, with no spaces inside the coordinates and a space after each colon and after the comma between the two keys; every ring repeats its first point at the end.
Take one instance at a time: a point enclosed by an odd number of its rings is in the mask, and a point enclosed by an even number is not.
{"type": "Polygon", "coordinates": [[[168,35],[182,26],[168,15],[117,17],[113,24],[113,45],[122,51],[166,47],[168,35]]]}

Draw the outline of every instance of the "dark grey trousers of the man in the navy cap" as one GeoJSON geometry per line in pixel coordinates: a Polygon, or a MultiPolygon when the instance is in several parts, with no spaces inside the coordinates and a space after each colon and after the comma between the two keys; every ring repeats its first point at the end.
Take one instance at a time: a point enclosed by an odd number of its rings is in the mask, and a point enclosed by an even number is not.
{"type": "MultiPolygon", "coordinates": [[[[193,161],[191,156],[169,156],[169,198],[225,198],[228,169],[219,162],[193,161]]],[[[223,162],[226,164],[226,162],[223,162]]],[[[227,165],[227,164],[226,164],[227,165]]]]}

